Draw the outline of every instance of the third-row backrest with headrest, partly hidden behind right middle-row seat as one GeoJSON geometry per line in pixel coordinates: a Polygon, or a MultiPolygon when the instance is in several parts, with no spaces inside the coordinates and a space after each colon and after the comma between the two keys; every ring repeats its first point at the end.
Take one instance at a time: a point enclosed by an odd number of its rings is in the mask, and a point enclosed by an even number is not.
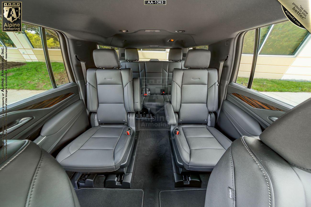
{"type": "Polygon", "coordinates": [[[172,89],[172,76],[174,68],[183,68],[183,50],[181,48],[169,49],[169,63],[167,75],[167,91],[166,94],[171,94],[172,89]]]}

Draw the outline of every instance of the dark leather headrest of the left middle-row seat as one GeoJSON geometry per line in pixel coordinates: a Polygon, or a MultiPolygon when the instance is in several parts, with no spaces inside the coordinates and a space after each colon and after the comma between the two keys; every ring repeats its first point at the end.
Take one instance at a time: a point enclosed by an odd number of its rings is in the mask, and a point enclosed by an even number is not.
{"type": "Polygon", "coordinates": [[[93,51],[93,59],[97,68],[120,68],[118,54],[113,49],[96,49],[93,51]]]}

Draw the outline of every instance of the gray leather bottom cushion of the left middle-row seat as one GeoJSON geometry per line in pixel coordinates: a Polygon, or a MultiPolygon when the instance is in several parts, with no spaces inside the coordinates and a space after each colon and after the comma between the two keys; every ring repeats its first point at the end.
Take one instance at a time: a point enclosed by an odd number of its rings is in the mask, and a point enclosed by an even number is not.
{"type": "Polygon", "coordinates": [[[63,148],[56,160],[67,171],[109,172],[117,170],[130,147],[128,126],[92,127],[63,148]]]}

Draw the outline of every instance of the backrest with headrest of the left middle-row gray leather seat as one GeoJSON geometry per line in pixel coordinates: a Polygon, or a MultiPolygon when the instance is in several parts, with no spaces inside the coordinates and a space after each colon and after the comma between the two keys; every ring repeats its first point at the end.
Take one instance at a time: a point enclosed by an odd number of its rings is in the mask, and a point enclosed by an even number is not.
{"type": "Polygon", "coordinates": [[[93,57],[97,68],[86,71],[88,110],[97,112],[99,124],[127,123],[134,111],[132,69],[121,69],[112,49],[96,49],[93,57]]]}

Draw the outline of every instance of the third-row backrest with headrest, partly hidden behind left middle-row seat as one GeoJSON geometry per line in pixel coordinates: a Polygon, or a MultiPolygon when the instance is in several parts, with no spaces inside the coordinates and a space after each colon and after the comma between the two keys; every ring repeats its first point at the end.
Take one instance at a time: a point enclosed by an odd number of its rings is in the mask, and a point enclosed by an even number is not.
{"type": "Polygon", "coordinates": [[[140,79],[140,85],[145,87],[145,62],[138,61],[139,55],[137,48],[125,49],[125,61],[121,62],[121,68],[131,68],[133,72],[133,78],[140,79]]]}

